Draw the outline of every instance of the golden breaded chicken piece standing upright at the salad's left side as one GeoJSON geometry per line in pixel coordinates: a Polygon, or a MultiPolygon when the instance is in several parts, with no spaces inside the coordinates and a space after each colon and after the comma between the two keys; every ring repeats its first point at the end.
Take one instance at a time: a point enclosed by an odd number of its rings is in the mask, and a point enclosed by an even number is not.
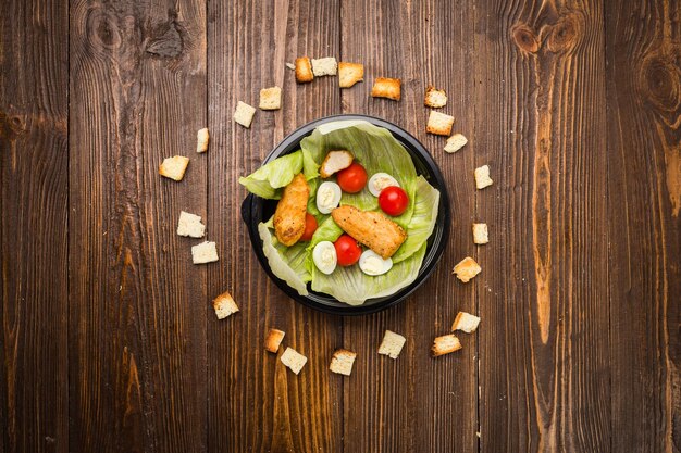
{"type": "Polygon", "coordinates": [[[274,212],[274,234],[286,247],[298,242],[305,231],[305,213],[310,188],[302,173],[297,174],[284,188],[284,194],[274,212]]]}

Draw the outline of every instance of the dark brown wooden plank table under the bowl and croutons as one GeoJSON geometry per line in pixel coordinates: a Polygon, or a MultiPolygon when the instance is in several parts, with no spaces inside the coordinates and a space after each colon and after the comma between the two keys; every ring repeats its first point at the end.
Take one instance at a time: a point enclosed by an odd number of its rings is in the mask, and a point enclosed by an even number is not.
{"type": "Polygon", "coordinates": [[[681,2],[0,11],[0,451],[680,451],[681,2]],[[299,55],[361,62],[364,81],[298,86],[299,55]],[[401,101],[369,96],[377,76],[401,78],[401,101]],[[470,140],[456,154],[424,131],[429,84],[470,140]],[[282,110],[232,121],[274,85],[282,110]],[[364,317],[287,299],[238,214],[237,177],[336,113],[418,137],[454,213],[430,280],[364,317]],[[191,159],[182,183],[158,175],[174,154],[191,159]],[[495,184],[476,191],[483,164],[495,184]],[[181,210],[203,216],[219,263],[191,264],[181,210]],[[450,275],[466,255],[483,268],[468,285],[450,275]],[[242,311],[219,322],[224,290],[242,311]],[[458,311],[480,329],[432,358],[458,311]],[[309,356],[299,376],[263,350],[272,326],[309,356]],[[376,354],[385,329],[408,339],[396,361],[376,354]],[[358,353],[350,377],[327,369],[339,347],[358,353]]]}

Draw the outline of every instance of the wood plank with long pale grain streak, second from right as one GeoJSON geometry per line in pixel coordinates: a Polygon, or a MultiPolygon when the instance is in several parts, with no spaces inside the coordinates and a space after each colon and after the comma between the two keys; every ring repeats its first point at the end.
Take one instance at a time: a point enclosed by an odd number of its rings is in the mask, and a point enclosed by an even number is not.
{"type": "Polygon", "coordinates": [[[481,450],[608,451],[603,4],[475,9],[481,450]]]}

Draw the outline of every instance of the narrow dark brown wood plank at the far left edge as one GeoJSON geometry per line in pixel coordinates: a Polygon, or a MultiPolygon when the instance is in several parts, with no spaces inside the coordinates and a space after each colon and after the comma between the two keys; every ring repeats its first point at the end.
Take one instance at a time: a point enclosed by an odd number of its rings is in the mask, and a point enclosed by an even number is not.
{"type": "Polygon", "coordinates": [[[66,452],[69,4],[0,24],[0,451],[66,452]]]}

